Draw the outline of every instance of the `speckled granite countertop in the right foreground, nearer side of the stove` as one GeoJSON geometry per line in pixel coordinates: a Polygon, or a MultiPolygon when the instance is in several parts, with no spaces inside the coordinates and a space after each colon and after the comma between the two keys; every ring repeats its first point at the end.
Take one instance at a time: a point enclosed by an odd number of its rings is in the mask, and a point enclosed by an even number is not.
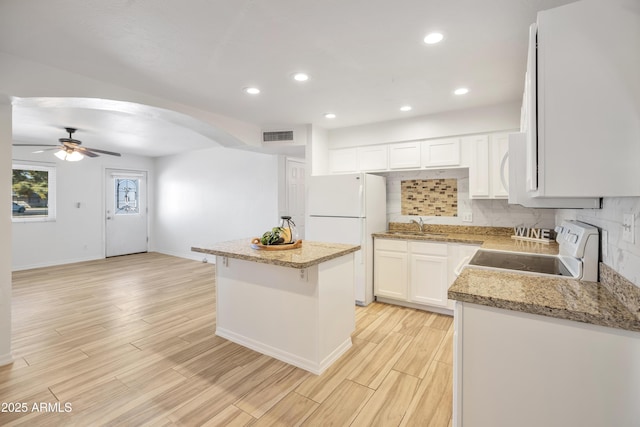
{"type": "Polygon", "coordinates": [[[640,319],[603,284],[465,268],[448,296],[462,302],[640,332],[640,319]]]}

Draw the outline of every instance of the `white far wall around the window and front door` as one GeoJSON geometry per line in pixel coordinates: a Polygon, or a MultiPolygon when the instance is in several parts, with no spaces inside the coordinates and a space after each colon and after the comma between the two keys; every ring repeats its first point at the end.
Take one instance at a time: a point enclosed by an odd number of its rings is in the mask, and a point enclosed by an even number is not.
{"type": "MultiPolygon", "coordinates": [[[[13,269],[104,258],[105,168],[147,171],[149,177],[153,177],[153,160],[131,155],[103,155],[65,162],[50,151],[40,154],[31,151],[26,147],[14,147],[13,159],[55,165],[56,220],[12,224],[13,269]],[[80,208],[76,207],[77,203],[80,208]]],[[[153,206],[152,185],[149,185],[148,194],[149,206],[153,206]]]]}

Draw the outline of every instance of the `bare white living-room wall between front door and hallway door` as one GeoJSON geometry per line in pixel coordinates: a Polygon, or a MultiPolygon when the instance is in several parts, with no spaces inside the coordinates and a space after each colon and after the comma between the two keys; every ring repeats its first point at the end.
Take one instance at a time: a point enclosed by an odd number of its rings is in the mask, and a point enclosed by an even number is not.
{"type": "Polygon", "coordinates": [[[155,173],[155,251],[200,260],[192,246],[279,225],[275,155],[211,148],[158,158],[155,173]]]}

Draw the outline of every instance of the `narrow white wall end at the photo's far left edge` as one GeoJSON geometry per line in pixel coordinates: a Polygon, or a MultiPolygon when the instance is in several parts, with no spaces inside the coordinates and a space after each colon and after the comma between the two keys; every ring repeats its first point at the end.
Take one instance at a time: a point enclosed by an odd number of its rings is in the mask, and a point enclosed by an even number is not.
{"type": "MultiPolygon", "coordinates": [[[[11,104],[0,94],[0,200],[11,199],[11,104]]],[[[3,202],[4,203],[4,202],[3,202]]],[[[0,209],[0,366],[11,357],[11,213],[0,209]]]]}

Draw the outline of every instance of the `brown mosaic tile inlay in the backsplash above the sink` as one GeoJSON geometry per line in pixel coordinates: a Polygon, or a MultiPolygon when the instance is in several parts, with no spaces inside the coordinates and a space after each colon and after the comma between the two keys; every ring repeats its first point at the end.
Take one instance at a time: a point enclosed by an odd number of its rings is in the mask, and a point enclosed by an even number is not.
{"type": "Polygon", "coordinates": [[[458,180],[412,179],[401,183],[402,215],[458,216],[458,180]]]}

